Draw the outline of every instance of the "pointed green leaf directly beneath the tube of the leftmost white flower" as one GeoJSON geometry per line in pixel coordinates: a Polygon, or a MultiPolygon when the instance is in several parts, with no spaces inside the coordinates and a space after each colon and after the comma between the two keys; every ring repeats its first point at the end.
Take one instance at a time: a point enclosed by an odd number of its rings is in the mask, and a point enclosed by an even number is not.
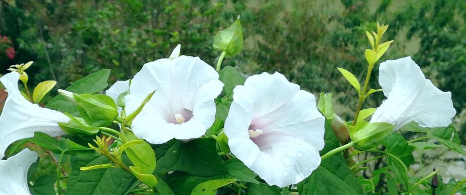
{"type": "Polygon", "coordinates": [[[29,141],[56,154],[75,154],[76,151],[80,150],[92,150],[66,138],[56,140],[42,132],[34,133],[34,137],[29,138],[29,141]]]}

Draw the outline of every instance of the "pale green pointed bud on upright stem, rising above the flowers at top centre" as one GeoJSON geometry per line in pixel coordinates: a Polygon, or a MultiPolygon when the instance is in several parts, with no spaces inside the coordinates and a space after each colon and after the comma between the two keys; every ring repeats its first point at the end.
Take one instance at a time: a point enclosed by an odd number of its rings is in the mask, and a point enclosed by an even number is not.
{"type": "Polygon", "coordinates": [[[236,20],[229,28],[215,35],[212,47],[214,50],[226,51],[226,56],[234,56],[241,51],[242,43],[241,22],[236,20]]]}

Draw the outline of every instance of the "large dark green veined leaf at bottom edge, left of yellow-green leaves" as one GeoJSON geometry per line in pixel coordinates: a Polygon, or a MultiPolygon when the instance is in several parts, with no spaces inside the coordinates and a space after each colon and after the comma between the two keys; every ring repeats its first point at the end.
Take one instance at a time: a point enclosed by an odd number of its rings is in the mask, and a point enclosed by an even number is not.
{"type": "MultiPolygon", "coordinates": [[[[123,160],[128,161],[127,158],[123,160]]],[[[106,156],[94,151],[79,152],[72,163],[66,195],[123,195],[129,188],[134,188],[132,184],[136,178],[123,169],[80,171],[81,167],[109,162],[106,156]]]]}

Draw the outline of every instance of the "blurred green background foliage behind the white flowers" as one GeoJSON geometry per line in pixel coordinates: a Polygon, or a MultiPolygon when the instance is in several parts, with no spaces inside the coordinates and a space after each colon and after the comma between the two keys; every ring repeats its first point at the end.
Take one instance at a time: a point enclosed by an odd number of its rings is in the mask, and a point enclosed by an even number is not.
{"type": "MultiPolygon", "coordinates": [[[[182,54],[215,64],[215,33],[240,15],[243,50],[224,65],[244,75],[279,71],[305,90],[334,93],[336,113],[351,120],[357,94],[336,67],[363,82],[365,31],[379,21],[390,25],[384,41],[394,40],[379,61],[412,56],[427,78],[451,91],[454,124],[465,139],[465,9],[460,0],[0,0],[1,73],[34,60],[31,85],[53,79],[65,88],[103,68],[112,69],[114,82],[168,57],[178,43],[182,54]]],[[[380,88],[377,79],[370,87],[380,88]]],[[[382,99],[377,93],[365,107],[382,99]]]]}

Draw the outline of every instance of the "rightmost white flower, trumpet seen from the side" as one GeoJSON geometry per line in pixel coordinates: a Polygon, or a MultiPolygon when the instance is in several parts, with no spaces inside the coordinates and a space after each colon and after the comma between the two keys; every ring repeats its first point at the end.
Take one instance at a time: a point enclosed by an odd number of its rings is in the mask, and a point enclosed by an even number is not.
{"type": "Polygon", "coordinates": [[[451,123],[456,110],[451,93],[443,92],[424,77],[421,68],[405,57],[380,63],[379,83],[386,100],[371,122],[395,125],[394,131],[411,121],[422,127],[442,127],[451,123]]]}

